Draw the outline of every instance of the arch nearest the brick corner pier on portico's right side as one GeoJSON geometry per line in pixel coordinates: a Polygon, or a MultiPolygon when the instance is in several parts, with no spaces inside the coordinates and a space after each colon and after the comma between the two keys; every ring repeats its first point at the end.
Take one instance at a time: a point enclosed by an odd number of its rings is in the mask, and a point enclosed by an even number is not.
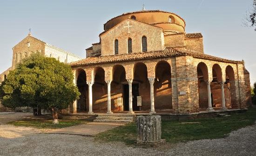
{"type": "Polygon", "coordinates": [[[208,91],[206,80],[209,79],[207,65],[200,62],[197,65],[197,78],[198,78],[198,97],[199,97],[199,109],[205,110],[208,108],[208,91]]]}

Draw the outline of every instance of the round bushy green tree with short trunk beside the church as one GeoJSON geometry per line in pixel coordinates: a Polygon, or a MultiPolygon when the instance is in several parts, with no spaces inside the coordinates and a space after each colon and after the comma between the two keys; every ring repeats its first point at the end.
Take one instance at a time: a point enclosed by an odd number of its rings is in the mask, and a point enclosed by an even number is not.
{"type": "Polygon", "coordinates": [[[79,98],[73,78],[69,65],[34,53],[10,71],[0,85],[0,100],[9,108],[40,105],[50,109],[58,123],[58,112],[79,98]]]}

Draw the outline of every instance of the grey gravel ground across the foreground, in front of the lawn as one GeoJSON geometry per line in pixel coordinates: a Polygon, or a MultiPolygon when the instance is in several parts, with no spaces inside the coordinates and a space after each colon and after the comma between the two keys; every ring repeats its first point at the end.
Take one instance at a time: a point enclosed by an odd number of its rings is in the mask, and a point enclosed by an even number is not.
{"type": "Polygon", "coordinates": [[[93,137],[42,134],[40,130],[10,125],[0,125],[0,134],[0,156],[256,156],[256,124],[222,139],[158,148],[101,143],[93,137]]]}

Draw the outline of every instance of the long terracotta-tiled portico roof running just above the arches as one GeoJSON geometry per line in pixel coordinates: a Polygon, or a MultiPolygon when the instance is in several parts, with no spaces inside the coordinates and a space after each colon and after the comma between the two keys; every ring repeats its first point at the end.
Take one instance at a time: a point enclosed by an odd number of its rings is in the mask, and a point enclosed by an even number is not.
{"type": "Polygon", "coordinates": [[[123,61],[130,61],[130,60],[164,58],[164,57],[185,56],[185,55],[193,56],[195,58],[209,59],[209,60],[215,60],[220,62],[243,63],[242,61],[233,61],[229,59],[218,58],[211,55],[195,52],[189,49],[176,50],[174,48],[165,48],[162,51],[138,52],[138,53],[128,53],[128,54],[120,54],[120,55],[108,55],[108,56],[85,58],[76,62],[72,62],[69,65],[71,66],[92,65],[92,64],[103,64],[103,63],[111,63],[111,62],[123,62],[123,61]]]}

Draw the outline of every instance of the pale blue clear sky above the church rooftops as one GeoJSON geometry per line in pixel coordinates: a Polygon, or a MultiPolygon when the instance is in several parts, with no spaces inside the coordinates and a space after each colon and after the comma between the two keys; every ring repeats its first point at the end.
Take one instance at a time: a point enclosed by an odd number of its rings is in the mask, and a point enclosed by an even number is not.
{"type": "Polygon", "coordinates": [[[256,32],[242,19],[253,0],[0,0],[0,72],[12,63],[12,47],[28,34],[85,57],[103,24],[122,13],[163,10],[180,15],[186,32],[202,32],[207,54],[245,60],[256,82],[256,32]]]}

